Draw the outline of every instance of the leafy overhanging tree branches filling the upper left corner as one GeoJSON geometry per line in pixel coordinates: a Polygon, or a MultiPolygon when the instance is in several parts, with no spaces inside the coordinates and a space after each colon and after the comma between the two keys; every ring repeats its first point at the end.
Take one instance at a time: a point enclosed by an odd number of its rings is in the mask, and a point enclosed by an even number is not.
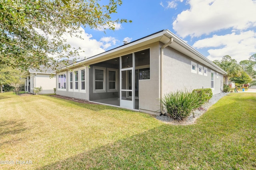
{"type": "Polygon", "coordinates": [[[62,35],[79,37],[81,25],[114,30],[116,23],[127,22],[111,20],[121,4],[121,0],[0,0],[0,64],[55,70],[60,60],[79,55],[62,35]]]}

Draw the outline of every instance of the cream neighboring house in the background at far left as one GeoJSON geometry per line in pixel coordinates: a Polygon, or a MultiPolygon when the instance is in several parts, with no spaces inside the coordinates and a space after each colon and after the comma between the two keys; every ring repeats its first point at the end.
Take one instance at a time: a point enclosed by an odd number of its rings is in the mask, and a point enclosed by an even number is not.
{"type": "Polygon", "coordinates": [[[40,66],[42,71],[29,69],[29,76],[25,79],[25,91],[34,94],[34,88],[42,87],[40,94],[51,94],[54,93],[53,88],[56,88],[56,76],[50,78],[52,74],[51,68],[43,68],[40,66]]]}

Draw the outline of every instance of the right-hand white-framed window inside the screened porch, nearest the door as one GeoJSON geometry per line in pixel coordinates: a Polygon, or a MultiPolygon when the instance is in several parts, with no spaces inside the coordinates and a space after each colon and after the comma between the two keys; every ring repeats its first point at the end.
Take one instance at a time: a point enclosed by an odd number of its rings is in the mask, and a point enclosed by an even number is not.
{"type": "Polygon", "coordinates": [[[117,85],[117,69],[108,68],[108,92],[117,92],[118,85],[117,85]]]}

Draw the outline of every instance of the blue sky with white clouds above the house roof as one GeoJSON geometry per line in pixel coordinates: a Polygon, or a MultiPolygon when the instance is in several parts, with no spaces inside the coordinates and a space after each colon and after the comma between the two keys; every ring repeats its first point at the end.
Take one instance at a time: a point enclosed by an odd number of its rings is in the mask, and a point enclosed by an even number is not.
{"type": "Polygon", "coordinates": [[[230,55],[240,62],[256,53],[255,16],[256,0],[123,0],[112,19],[132,23],[116,23],[106,33],[85,27],[84,40],[66,38],[88,58],[169,29],[211,61],[230,55]]]}

